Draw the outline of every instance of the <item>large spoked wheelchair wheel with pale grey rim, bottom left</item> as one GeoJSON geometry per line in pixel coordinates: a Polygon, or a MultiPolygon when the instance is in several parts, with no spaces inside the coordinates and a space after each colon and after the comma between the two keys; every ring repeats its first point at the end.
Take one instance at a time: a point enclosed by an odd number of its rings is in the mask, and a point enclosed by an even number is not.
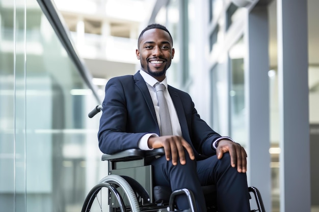
{"type": "Polygon", "coordinates": [[[127,181],[111,174],[100,180],[87,195],[82,212],[89,211],[140,212],[140,206],[127,181]]]}

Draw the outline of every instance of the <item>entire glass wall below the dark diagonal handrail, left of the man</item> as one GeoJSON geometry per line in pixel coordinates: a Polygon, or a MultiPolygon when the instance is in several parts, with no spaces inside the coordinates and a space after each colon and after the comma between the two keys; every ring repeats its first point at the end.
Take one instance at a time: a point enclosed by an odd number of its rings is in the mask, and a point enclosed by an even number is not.
{"type": "Polygon", "coordinates": [[[0,0],[1,211],[79,211],[107,174],[97,100],[36,0],[0,0]]]}

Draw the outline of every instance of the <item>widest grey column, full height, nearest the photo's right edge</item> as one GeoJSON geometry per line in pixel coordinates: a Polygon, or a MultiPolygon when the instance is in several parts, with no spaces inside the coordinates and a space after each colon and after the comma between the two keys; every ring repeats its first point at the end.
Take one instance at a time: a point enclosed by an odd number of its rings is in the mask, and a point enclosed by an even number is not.
{"type": "Polygon", "coordinates": [[[280,211],[310,211],[307,1],[277,0],[280,211]]]}

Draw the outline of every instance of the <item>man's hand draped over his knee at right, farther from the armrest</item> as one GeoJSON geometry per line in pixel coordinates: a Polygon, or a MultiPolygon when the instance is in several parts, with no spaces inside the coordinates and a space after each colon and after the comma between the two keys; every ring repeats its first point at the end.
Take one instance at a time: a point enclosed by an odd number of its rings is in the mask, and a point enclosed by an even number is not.
{"type": "Polygon", "coordinates": [[[247,171],[247,154],[244,147],[227,139],[220,140],[216,149],[217,158],[221,159],[227,152],[230,155],[231,166],[237,166],[238,172],[245,173],[247,171]]]}

